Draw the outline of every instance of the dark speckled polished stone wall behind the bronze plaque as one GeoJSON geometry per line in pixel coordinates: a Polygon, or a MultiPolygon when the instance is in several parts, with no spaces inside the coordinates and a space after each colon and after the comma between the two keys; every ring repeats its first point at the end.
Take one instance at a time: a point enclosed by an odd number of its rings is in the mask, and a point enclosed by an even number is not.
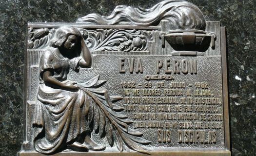
{"type": "MultiPolygon", "coordinates": [[[[0,0],[0,156],[23,139],[23,68],[27,22],[75,22],[116,5],[148,8],[160,0],[0,0]]],[[[227,27],[233,156],[256,155],[256,0],[188,0],[227,27]]]]}

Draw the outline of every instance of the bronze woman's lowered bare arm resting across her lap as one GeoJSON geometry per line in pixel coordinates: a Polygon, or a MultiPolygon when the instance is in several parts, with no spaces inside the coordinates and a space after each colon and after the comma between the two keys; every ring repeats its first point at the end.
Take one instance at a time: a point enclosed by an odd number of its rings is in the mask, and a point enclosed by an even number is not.
{"type": "Polygon", "coordinates": [[[78,86],[73,84],[65,84],[57,80],[56,78],[52,77],[51,71],[45,71],[43,73],[43,81],[46,85],[51,85],[51,87],[56,89],[67,89],[67,90],[77,90],[79,89],[78,86]]]}

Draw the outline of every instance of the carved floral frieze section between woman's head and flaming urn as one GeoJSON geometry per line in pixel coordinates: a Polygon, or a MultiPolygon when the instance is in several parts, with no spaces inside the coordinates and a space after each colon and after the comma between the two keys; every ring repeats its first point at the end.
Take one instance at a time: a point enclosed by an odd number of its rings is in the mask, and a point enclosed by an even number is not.
{"type": "Polygon", "coordinates": [[[89,30],[86,43],[92,51],[147,51],[148,41],[153,40],[152,31],[97,29],[89,30]]]}

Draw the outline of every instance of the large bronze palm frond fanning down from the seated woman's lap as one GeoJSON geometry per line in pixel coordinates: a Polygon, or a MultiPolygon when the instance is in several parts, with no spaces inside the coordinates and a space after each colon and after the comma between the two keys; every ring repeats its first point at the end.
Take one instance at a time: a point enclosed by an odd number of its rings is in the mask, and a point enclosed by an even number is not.
{"type": "Polygon", "coordinates": [[[151,142],[143,139],[143,133],[129,129],[128,125],[133,121],[128,116],[119,113],[123,107],[114,104],[122,100],[119,96],[109,96],[107,89],[98,88],[106,81],[99,80],[99,75],[84,83],[78,83],[79,88],[85,93],[85,98],[90,100],[86,104],[88,110],[89,124],[93,125],[93,130],[100,138],[106,137],[108,144],[113,147],[114,142],[120,152],[126,145],[131,150],[149,154],[144,145],[151,142]]]}

